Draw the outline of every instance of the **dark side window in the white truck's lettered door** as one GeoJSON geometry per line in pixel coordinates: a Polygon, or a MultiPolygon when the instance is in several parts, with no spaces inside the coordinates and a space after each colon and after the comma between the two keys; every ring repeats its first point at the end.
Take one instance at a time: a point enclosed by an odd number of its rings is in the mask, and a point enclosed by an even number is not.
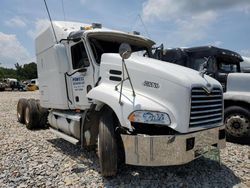
{"type": "Polygon", "coordinates": [[[89,66],[89,59],[83,42],[79,42],[71,47],[71,57],[73,69],[89,66]]]}

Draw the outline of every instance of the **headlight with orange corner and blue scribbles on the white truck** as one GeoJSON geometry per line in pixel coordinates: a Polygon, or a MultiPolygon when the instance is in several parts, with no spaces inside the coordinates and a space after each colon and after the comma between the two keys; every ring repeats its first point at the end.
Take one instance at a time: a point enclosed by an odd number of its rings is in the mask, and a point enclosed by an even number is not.
{"type": "Polygon", "coordinates": [[[169,115],[163,112],[134,111],[129,117],[129,121],[148,124],[170,125],[169,115]]]}

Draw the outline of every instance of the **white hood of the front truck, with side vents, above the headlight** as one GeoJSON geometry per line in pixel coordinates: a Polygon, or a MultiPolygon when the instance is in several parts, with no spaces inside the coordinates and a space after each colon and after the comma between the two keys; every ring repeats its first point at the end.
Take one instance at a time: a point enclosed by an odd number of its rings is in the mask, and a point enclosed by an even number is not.
{"type": "MultiPolygon", "coordinates": [[[[208,83],[211,88],[221,88],[220,83],[209,76],[204,75],[203,78],[195,70],[168,62],[132,55],[125,63],[136,94],[133,97],[129,81],[123,83],[124,90],[129,92],[126,95],[123,92],[122,99],[127,99],[127,103],[131,105],[130,112],[135,109],[165,112],[171,119],[170,127],[182,133],[189,129],[191,88],[210,89],[208,83]]],[[[97,87],[103,86],[102,90],[114,88],[117,91],[115,87],[121,84],[121,70],[122,59],[119,54],[103,54],[100,64],[101,81],[97,87]]],[[[126,71],[124,73],[126,78],[126,71]]],[[[108,92],[112,93],[111,91],[108,92]]],[[[116,97],[119,98],[119,95],[116,97]]]]}

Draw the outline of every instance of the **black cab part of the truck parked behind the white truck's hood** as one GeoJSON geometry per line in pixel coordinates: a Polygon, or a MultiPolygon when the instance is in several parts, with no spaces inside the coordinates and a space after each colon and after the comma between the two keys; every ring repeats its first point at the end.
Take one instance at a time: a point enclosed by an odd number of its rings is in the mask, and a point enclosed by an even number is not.
{"type": "Polygon", "coordinates": [[[158,53],[158,59],[197,71],[201,71],[207,61],[206,73],[221,83],[224,92],[228,74],[241,72],[240,62],[243,61],[238,53],[214,46],[173,48],[156,53],[158,53]]]}

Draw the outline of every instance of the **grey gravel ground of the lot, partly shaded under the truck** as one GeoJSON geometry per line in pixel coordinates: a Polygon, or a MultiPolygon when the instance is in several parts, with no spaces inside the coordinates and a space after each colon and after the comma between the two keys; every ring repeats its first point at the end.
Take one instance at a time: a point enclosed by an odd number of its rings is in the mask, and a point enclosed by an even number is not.
{"type": "Polygon", "coordinates": [[[172,167],[123,165],[116,177],[103,178],[95,151],[17,122],[18,99],[38,97],[0,93],[0,187],[250,187],[249,143],[228,142],[221,165],[211,157],[172,167]]]}

